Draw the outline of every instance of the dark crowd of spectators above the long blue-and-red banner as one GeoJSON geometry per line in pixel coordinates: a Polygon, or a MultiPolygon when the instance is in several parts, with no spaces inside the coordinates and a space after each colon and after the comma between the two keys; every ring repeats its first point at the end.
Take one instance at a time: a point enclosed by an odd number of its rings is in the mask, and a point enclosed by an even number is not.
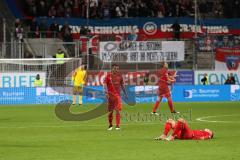
{"type": "MultiPolygon", "coordinates": [[[[32,17],[80,17],[91,19],[121,17],[194,16],[193,0],[23,0],[24,11],[32,17]],[[89,5],[89,7],[87,7],[89,5]],[[89,8],[89,9],[88,9],[89,8]]],[[[198,0],[205,17],[240,17],[240,0],[198,0]]]]}

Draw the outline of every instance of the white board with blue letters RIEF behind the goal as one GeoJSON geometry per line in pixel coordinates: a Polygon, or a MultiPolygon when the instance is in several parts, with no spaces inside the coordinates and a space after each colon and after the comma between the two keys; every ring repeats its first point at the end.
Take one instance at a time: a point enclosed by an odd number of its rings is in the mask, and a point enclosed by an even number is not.
{"type": "Polygon", "coordinates": [[[45,86],[45,72],[1,72],[0,88],[34,87],[33,83],[37,74],[40,75],[43,86],[45,86]]]}

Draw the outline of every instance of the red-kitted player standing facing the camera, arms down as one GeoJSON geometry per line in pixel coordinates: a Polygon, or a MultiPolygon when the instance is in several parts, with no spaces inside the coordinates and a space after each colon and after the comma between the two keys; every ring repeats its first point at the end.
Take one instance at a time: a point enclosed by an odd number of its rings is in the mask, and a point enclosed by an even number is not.
{"type": "Polygon", "coordinates": [[[104,89],[108,101],[108,130],[113,128],[113,112],[116,112],[116,130],[120,129],[120,112],[122,110],[121,89],[127,98],[122,75],[119,73],[119,66],[112,65],[112,70],[104,79],[104,89]]]}

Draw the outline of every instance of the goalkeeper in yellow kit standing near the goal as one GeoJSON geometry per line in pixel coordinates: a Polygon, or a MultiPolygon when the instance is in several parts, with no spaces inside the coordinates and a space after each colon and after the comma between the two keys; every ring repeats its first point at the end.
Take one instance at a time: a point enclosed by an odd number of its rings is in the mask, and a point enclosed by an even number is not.
{"type": "Polygon", "coordinates": [[[72,81],[73,81],[73,105],[76,104],[76,99],[78,95],[78,103],[82,105],[82,94],[83,87],[86,83],[87,72],[85,70],[85,66],[81,65],[76,71],[73,73],[72,81]]]}

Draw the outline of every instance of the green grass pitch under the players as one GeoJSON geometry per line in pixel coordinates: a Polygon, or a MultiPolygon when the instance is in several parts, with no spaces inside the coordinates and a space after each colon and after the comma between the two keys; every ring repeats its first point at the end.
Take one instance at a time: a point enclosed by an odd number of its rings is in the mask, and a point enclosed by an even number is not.
{"type": "MultiPolygon", "coordinates": [[[[54,106],[0,106],[0,160],[234,160],[240,157],[240,103],[175,103],[192,109],[192,129],[210,128],[206,141],[154,141],[163,122],[122,122],[121,131],[107,131],[106,115],[87,122],[56,118],[54,106]],[[199,117],[210,117],[199,122],[199,117]],[[224,122],[222,122],[224,121],[224,122]]],[[[93,106],[72,108],[84,112],[93,106]]],[[[149,113],[152,104],[123,108],[127,113],[149,113]]],[[[166,104],[162,113],[169,113],[166,104]]]]}

